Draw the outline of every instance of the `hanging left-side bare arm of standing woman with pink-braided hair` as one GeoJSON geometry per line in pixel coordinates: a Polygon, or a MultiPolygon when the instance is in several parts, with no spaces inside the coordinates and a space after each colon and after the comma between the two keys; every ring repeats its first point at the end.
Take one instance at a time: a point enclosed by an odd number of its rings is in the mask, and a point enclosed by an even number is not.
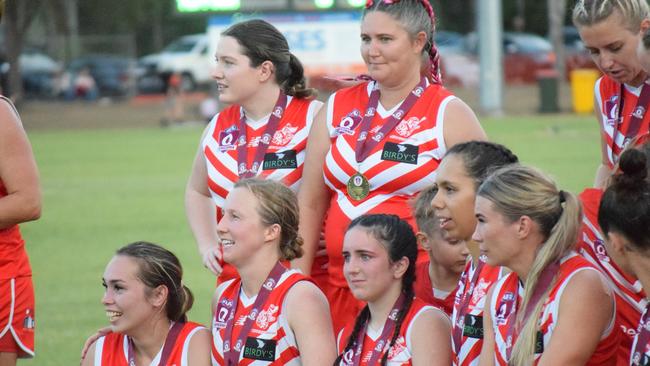
{"type": "Polygon", "coordinates": [[[330,148],[326,123],[327,108],[321,108],[309,132],[303,181],[298,191],[299,234],[304,240],[304,254],[301,258],[294,259],[291,266],[305,274],[311,273],[311,266],[318,250],[323,218],[329,205],[329,190],[323,180],[323,164],[330,148]]]}

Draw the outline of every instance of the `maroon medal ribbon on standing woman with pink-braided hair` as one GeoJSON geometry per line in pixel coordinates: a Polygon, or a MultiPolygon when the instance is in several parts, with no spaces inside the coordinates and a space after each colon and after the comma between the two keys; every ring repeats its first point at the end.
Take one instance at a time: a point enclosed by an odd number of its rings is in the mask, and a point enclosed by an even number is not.
{"type": "Polygon", "coordinates": [[[370,155],[372,149],[374,149],[375,146],[377,146],[377,144],[379,144],[386,137],[388,132],[395,128],[402,121],[402,118],[408,114],[415,102],[420,99],[420,96],[422,96],[422,93],[424,93],[424,89],[426,89],[426,87],[427,80],[423,77],[420,79],[418,85],[416,85],[415,88],[411,90],[402,104],[400,104],[395,113],[388,117],[388,120],[384,122],[384,125],[379,130],[379,132],[370,138],[371,141],[368,141],[370,123],[375,117],[375,113],[377,113],[377,106],[379,105],[380,92],[379,88],[377,87],[377,82],[375,82],[372,88],[372,92],[370,93],[370,99],[368,100],[366,113],[363,115],[363,119],[361,120],[361,130],[357,139],[357,145],[354,149],[357,163],[365,160],[368,155],[370,155]]]}

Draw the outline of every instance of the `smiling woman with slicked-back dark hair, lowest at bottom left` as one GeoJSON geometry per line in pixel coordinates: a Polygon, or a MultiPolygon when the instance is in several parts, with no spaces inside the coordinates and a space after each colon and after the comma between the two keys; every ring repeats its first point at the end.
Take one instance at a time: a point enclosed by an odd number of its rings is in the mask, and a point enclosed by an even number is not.
{"type": "Polygon", "coordinates": [[[210,365],[210,332],[188,322],[193,296],[176,256],[136,242],[106,266],[102,303],[111,323],[90,346],[82,366],[210,365]]]}

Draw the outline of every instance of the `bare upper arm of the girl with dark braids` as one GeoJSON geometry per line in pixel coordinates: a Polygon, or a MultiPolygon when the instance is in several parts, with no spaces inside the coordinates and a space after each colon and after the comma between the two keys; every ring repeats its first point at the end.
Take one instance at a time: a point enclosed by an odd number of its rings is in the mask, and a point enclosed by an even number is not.
{"type": "Polygon", "coordinates": [[[411,332],[413,366],[451,365],[451,322],[441,311],[420,314],[411,332]]]}

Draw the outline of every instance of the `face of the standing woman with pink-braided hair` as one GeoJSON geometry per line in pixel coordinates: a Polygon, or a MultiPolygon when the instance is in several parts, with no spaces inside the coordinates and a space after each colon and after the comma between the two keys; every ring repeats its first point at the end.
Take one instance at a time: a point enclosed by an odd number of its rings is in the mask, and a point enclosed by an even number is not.
{"type": "Polygon", "coordinates": [[[361,23],[361,56],[368,74],[381,84],[400,84],[414,72],[419,77],[424,32],[415,40],[389,14],[372,11],[361,23]]]}

